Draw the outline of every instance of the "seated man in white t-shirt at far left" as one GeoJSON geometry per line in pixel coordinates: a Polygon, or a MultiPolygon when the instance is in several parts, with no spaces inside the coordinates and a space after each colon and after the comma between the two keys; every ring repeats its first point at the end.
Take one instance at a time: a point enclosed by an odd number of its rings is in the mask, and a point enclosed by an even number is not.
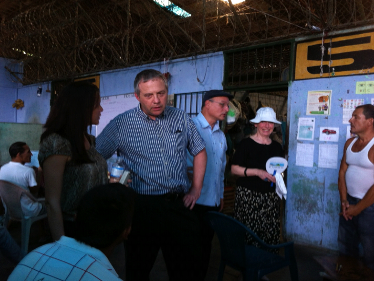
{"type": "MultiPolygon", "coordinates": [[[[0,168],[0,180],[6,180],[36,194],[39,185],[36,182],[35,171],[25,166],[25,163],[31,162],[30,147],[26,143],[16,142],[10,146],[9,154],[12,160],[0,168]]],[[[26,217],[36,216],[46,211],[44,204],[33,202],[27,195],[21,196],[20,203],[26,217]]]]}

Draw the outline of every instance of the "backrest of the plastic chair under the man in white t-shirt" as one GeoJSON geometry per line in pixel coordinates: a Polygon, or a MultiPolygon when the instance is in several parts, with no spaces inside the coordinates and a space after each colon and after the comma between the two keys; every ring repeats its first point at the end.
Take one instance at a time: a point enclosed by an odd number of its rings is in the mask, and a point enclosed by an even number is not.
{"type": "Polygon", "coordinates": [[[22,219],[23,217],[20,204],[22,194],[26,194],[31,200],[37,202],[37,199],[22,187],[9,183],[6,180],[0,180],[0,196],[7,207],[7,213],[12,218],[22,219]]]}

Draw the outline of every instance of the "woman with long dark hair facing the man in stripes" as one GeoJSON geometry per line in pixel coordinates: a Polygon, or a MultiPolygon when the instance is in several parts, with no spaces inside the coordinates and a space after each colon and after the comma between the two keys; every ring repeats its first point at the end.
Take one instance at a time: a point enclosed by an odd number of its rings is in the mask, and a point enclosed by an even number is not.
{"type": "Polygon", "coordinates": [[[48,222],[53,240],[74,231],[80,198],[108,182],[107,162],[88,133],[99,124],[102,107],[98,88],[73,82],[57,97],[40,137],[38,160],[44,171],[48,222]]]}

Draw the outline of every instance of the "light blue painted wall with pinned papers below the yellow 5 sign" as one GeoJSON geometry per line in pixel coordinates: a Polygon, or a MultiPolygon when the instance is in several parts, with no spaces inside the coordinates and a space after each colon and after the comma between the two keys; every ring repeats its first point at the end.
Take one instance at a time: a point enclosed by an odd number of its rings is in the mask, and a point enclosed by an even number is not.
{"type": "Polygon", "coordinates": [[[337,250],[340,199],[338,192],[338,171],[346,141],[346,124],[342,124],[344,99],[364,98],[371,103],[373,94],[358,95],[356,82],[374,81],[374,75],[354,75],[294,81],[288,88],[289,116],[289,157],[287,174],[287,200],[285,234],[295,242],[306,243],[337,250]],[[331,115],[306,115],[307,92],[312,90],[333,90],[331,94],[331,115]],[[297,140],[300,117],[315,117],[314,141],[297,140]],[[339,142],[320,142],[320,127],[339,127],[339,142]],[[298,143],[313,143],[314,167],[296,166],[298,143]],[[338,168],[318,168],[320,144],[338,144],[338,168]]]}

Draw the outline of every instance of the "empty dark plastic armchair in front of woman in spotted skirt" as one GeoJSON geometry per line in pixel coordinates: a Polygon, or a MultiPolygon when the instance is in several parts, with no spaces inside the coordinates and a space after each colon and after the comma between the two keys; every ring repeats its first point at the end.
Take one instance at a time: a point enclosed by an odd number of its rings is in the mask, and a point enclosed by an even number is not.
{"type": "Polygon", "coordinates": [[[298,271],[294,253],[294,242],[278,245],[265,244],[251,229],[231,216],[207,212],[205,219],[216,232],[221,247],[221,262],[218,281],[223,279],[223,272],[230,266],[243,274],[243,280],[261,280],[265,274],[288,266],[292,281],[298,281],[298,271]],[[245,243],[250,235],[260,248],[245,243]],[[266,250],[284,248],[284,256],[266,250]]]}

